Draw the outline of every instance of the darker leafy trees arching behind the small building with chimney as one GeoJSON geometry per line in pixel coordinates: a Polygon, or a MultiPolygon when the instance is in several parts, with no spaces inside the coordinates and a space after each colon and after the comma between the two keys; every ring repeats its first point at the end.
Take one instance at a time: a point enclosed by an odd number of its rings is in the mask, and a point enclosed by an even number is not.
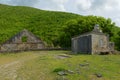
{"type": "MultiPolygon", "coordinates": [[[[116,33],[114,32],[114,29],[116,28],[115,23],[113,23],[110,18],[105,19],[103,17],[91,15],[91,16],[81,16],[79,19],[67,21],[67,23],[65,24],[62,30],[63,34],[61,34],[60,36],[59,43],[62,43],[60,45],[64,45],[64,47],[70,47],[71,46],[70,40],[72,37],[76,35],[80,35],[82,33],[90,32],[95,24],[99,24],[103,32],[109,34],[111,41],[115,41],[117,42],[117,44],[120,44],[119,41],[116,41],[119,39],[113,38],[117,36],[116,33]],[[65,44],[66,42],[67,44],[65,44]]],[[[117,49],[119,49],[119,47],[117,47],[117,49]]]]}

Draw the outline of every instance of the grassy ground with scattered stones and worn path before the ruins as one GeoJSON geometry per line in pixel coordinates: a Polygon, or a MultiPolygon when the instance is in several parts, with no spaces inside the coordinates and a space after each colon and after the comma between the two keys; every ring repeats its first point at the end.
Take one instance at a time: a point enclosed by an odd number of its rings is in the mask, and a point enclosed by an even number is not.
{"type": "Polygon", "coordinates": [[[120,55],[69,51],[0,54],[0,80],[120,80],[120,55]],[[60,76],[58,73],[65,72],[60,76]]]}

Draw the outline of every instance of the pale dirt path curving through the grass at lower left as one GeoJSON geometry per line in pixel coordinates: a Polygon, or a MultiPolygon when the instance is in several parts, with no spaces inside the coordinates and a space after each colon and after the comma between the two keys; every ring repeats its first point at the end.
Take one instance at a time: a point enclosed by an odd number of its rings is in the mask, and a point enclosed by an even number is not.
{"type": "Polygon", "coordinates": [[[24,64],[24,62],[36,57],[38,57],[38,55],[24,56],[21,57],[21,59],[0,65],[0,80],[16,80],[18,76],[17,70],[24,64]]]}

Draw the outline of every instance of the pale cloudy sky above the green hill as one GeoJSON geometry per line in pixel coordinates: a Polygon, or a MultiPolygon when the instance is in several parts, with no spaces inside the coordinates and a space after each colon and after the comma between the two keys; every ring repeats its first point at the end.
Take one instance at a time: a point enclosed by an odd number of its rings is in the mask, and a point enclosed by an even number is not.
{"type": "Polygon", "coordinates": [[[120,0],[0,0],[1,4],[111,18],[120,26],[120,0]]]}

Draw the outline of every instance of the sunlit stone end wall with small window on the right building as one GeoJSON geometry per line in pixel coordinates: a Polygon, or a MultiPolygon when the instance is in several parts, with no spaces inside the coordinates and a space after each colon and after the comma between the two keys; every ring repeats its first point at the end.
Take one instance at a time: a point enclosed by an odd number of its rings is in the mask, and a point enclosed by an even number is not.
{"type": "Polygon", "coordinates": [[[92,34],[92,53],[109,52],[109,39],[106,35],[92,34]]]}

